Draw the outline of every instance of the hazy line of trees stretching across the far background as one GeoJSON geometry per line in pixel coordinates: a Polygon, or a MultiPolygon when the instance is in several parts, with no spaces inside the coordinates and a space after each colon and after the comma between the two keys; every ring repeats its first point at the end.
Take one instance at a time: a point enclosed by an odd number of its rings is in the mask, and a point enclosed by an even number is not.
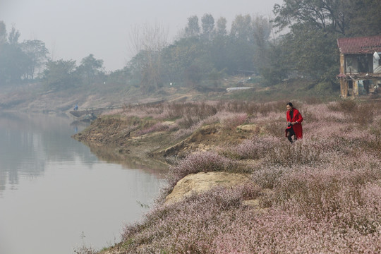
{"type": "Polygon", "coordinates": [[[111,73],[92,54],[78,66],[49,59],[44,42],[18,42],[20,32],[7,33],[0,21],[0,85],[38,79],[50,90],[114,83],[154,92],[174,84],[216,87],[240,72],[265,85],[293,77],[334,85],[337,38],[380,35],[380,12],[378,0],[284,0],[274,18],[237,15],[230,28],[224,17],[191,16],[171,43],[160,25],[143,25],[130,35],[133,58],[111,73]]]}

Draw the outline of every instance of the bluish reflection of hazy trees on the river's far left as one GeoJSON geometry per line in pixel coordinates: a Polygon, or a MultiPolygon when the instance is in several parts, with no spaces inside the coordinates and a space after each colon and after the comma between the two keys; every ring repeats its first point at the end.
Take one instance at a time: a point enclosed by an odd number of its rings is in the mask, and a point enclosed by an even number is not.
{"type": "Polygon", "coordinates": [[[68,117],[46,114],[0,114],[0,191],[17,185],[20,175],[41,176],[49,161],[87,164],[97,161],[84,145],[71,138],[74,127],[68,117]]]}

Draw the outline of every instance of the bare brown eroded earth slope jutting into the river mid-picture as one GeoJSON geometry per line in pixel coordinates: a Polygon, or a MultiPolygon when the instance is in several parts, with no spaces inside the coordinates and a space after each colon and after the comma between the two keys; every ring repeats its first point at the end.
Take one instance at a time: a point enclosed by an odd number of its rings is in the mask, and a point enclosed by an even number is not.
{"type": "MultiPolygon", "coordinates": [[[[165,123],[171,125],[170,121],[165,123]]],[[[219,124],[210,124],[181,138],[176,138],[171,131],[140,135],[142,129],[152,124],[152,119],[142,121],[116,115],[99,116],[73,138],[88,145],[102,159],[129,159],[136,164],[168,168],[175,158],[183,158],[191,152],[214,151],[221,145],[236,145],[260,131],[255,125],[229,130],[219,124]]]]}

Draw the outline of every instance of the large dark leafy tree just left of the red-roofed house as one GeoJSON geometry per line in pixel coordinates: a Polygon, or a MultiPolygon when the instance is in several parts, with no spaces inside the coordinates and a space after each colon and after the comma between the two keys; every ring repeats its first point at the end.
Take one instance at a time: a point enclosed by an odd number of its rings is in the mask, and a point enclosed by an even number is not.
{"type": "MultiPolygon", "coordinates": [[[[363,0],[284,0],[282,6],[274,6],[274,26],[279,30],[289,28],[280,42],[286,49],[282,58],[286,59],[283,68],[288,76],[337,82],[337,37],[349,31],[354,1],[363,0]]],[[[356,15],[360,13],[362,11],[356,9],[356,15]]],[[[274,63],[274,59],[270,62],[274,63]]]]}

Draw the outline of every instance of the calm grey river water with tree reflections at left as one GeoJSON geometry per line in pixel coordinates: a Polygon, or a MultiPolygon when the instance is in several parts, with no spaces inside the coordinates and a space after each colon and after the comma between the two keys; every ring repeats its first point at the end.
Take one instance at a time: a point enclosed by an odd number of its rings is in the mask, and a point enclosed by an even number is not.
{"type": "Polygon", "coordinates": [[[0,112],[0,253],[74,253],[120,240],[164,184],[97,159],[67,117],[0,112]],[[143,204],[143,207],[142,207],[143,204]]]}

